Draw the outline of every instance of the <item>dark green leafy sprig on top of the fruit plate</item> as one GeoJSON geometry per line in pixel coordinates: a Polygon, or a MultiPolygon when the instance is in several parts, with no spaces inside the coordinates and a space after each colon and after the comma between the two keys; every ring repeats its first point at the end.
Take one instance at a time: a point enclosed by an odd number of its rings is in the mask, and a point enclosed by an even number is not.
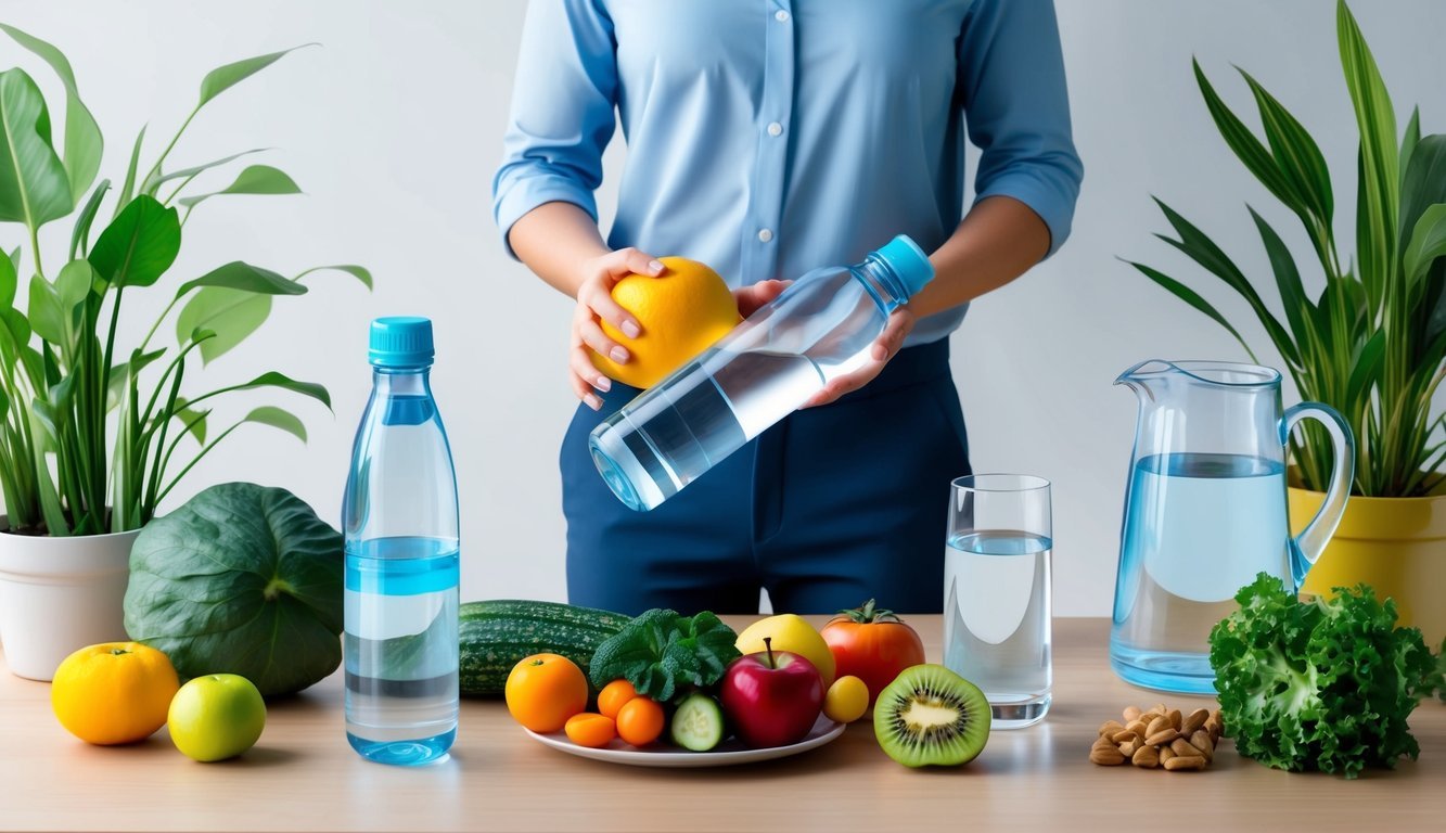
{"type": "Polygon", "coordinates": [[[739,657],[736,641],[737,633],[707,610],[688,618],[654,607],[597,646],[589,675],[597,688],[628,680],[639,694],[667,703],[685,687],[722,680],[739,657]]]}

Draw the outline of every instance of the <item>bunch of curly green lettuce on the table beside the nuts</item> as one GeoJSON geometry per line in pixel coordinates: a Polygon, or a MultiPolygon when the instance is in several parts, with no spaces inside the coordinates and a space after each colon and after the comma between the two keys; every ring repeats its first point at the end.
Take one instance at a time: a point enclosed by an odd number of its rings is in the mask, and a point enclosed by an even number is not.
{"type": "Polygon", "coordinates": [[[1300,602],[1261,573],[1210,631],[1225,733],[1241,755],[1293,772],[1355,778],[1420,746],[1407,717],[1434,687],[1436,658],[1395,602],[1361,584],[1300,602]]]}

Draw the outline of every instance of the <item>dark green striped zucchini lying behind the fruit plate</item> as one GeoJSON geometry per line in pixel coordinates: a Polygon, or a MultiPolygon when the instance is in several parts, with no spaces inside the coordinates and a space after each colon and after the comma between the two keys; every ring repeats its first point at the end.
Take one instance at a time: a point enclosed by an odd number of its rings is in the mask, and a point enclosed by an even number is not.
{"type": "Polygon", "coordinates": [[[534,654],[561,654],[587,674],[593,652],[630,616],[560,602],[493,599],[458,610],[464,696],[502,694],[513,665],[534,654]]]}

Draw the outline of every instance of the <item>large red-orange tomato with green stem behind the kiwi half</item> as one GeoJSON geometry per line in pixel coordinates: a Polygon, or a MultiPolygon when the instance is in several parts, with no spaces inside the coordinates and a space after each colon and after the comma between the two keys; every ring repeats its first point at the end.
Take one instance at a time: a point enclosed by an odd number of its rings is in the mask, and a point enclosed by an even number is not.
{"type": "Polygon", "coordinates": [[[852,674],[863,680],[870,706],[901,671],[924,662],[924,642],[914,628],[891,610],[876,609],[873,599],[853,610],[840,610],[820,633],[833,652],[839,677],[852,674]]]}

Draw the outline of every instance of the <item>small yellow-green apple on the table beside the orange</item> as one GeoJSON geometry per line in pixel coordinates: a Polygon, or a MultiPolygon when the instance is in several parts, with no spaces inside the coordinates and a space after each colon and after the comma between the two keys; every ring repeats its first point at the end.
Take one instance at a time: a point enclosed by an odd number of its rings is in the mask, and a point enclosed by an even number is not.
{"type": "Polygon", "coordinates": [[[187,758],[224,761],[256,745],[266,727],[266,701],[246,677],[207,674],[176,691],[166,726],[187,758]]]}

